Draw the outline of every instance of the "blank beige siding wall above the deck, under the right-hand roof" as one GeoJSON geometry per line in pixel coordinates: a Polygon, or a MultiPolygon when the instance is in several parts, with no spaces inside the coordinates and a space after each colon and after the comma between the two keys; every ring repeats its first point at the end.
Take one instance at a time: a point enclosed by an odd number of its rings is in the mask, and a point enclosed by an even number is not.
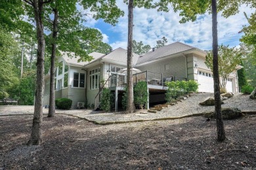
{"type": "Polygon", "coordinates": [[[163,59],[161,61],[156,61],[136,68],[141,71],[148,70],[155,73],[163,73],[165,76],[186,78],[186,59],[183,56],[163,59]]]}

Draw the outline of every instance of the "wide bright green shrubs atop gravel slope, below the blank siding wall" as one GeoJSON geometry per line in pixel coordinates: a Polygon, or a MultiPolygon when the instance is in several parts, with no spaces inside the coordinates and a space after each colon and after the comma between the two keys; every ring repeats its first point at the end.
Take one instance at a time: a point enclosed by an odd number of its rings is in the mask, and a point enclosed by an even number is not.
{"type": "Polygon", "coordinates": [[[172,81],[167,82],[166,85],[168,87],[165,93],[165,99],[167,102],[171,102],[185,93],[198,91],[198,82],[194,80],[177,82],[172,81]]]}

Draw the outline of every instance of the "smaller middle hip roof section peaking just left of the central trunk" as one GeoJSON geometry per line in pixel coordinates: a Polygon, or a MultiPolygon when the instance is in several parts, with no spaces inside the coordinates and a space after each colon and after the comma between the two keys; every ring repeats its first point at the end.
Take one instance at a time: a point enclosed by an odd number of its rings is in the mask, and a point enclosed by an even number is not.
{"type": "MultiPolygon", "coordinates": [[[[89,54],[89,56],[93,56],[93,53],[89,54]]],[[[93,56],[94,57],[94,56],[93,56]]],[[[137,59],[139,58],[138,54],[133,53],[133,65],[135,65],[137,63],[137,59]]],[[[85,64],[85,65],[89,65],[90,63],[93,63],[94,61],[98,61],[98,60],[104,60],[104,61],[108,61],[108,62],[113,62],[113,63],[117,63],[117,64],[123,64],[126,65],[127,63],[127,50],[119,47],[116,48],[116,50],[113,50],[112,52],[110,52],[109,54],[104,54],[102,56],[100,56],[97,59],[94,59],[93,61],[85,64]]]]}

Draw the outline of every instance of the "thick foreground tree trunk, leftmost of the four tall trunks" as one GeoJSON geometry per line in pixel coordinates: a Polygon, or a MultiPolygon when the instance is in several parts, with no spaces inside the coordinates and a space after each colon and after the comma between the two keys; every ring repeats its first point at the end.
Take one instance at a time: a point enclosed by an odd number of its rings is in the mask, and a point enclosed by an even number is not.
{"type": "Polygon", "coordinates": [[[33,126],[28,145],[38,145],[42,142],[41,124],[43,122],[43,76],[45,38],[43,34],[43,0],[33,0],[35,24],[37,29],[37,80],[35,87],[35,110],[33,113],[33,126]]]}

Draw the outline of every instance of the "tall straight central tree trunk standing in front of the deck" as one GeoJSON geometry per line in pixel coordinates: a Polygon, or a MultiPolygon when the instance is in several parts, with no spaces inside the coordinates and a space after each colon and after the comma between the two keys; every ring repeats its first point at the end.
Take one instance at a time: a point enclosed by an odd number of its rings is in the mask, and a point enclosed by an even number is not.
{"type": "Polygon", "coordinates": [[[128,5],[127,112],[135,112],[133,98],[133,0],[128,5]]]}

